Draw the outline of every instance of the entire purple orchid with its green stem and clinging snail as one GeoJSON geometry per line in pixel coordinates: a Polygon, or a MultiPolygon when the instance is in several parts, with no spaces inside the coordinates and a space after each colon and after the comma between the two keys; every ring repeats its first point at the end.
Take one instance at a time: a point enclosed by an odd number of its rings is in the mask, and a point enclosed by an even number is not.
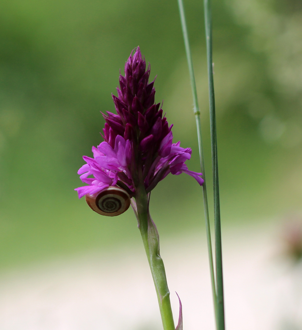
{"type": "MultiPolygon", "coordinates": [[[[94,211],[111,216],[122,213],[120,209],[124,212],[127,209],[123,208],[124,201],[131,198],[155,284],[163,328],[175,330],[165,269],[159,254],[158,232],[149,213],[150,192],[169,173],[186,173],[200,185],[203,179],[202,173],[189,171],[185,164],[191,157],[191,149],[180,147],[179,141],[172,142],[173,125],[169,126],[163,116],[160,103],[154,102],[154,80],[149,83],[150,65],[146,69],[139,47],[134,55],[132,53],[125,64],[125,76],[120,74],[117,96],[112,96],[116,114],[108,111],[102,114],[104,142],[97,148],[92,147],[92,158],[83,156],[86,164],[78,174],[87,185],[75,190],[79,198],[85,196],[94,211]]],[[[181,330],[180,326],[177,329],[181,330]]]]}

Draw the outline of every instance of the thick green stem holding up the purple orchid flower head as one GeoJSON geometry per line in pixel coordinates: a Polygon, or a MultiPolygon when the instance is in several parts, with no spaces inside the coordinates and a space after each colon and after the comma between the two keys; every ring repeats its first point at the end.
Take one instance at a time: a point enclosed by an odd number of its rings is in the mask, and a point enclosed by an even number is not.
{"type": "Polygon", "coordinates": [[[135,201],[135,213],[154,281],[163,328],[175,330],[165,267],[159,254],[159,236],[149,213],[148,194],[143,185],[137,187],[135,201]]]}

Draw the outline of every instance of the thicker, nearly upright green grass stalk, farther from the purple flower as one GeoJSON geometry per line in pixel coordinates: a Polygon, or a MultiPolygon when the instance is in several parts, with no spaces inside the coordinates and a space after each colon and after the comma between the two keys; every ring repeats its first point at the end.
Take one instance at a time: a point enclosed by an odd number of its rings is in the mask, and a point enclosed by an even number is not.
{"type": "Polygon", "coordinates": [[[216,287],[217,287],[217,320],[218,330],[225,329],[224,321],[224,298],[223,298],[223,274],[222,274],[222,251],[221,251],[221,225],[220,225],[220,201],[219,201],[219,180],[217,162],[217,135],[215,116],[215,96],[212,62],[212,14],[210,0],[204,0],[205,25],[206,25],[206,55],[209,83],[209,104],[210,104],[210,128],[211,128],[211,149],[212,149],[212,170],[214,187],[214,224],[215,224],[215,260],[216,260],[216,287]]]}

